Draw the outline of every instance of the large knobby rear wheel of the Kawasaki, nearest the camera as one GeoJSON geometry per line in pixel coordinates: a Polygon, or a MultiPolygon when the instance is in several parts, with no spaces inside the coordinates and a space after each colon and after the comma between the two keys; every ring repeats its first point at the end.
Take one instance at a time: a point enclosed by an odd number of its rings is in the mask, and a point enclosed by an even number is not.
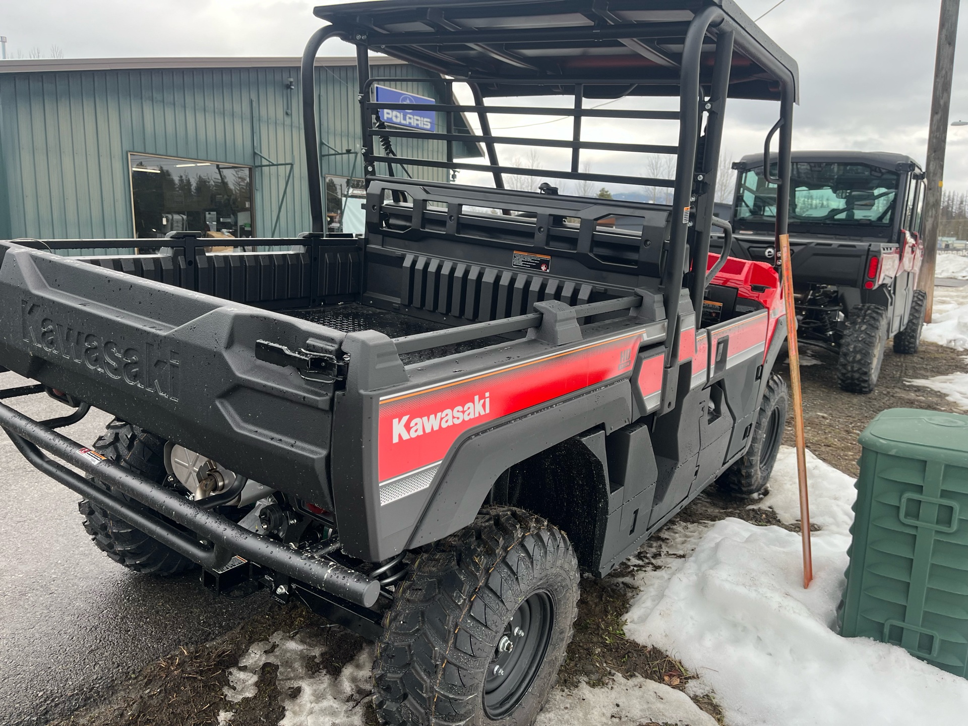
{"type": "Polygon", "coordinates": [[[374,663],[382,722],[530,724],[571,640],[579,580],[567,537],[511,507],[483,509],[428,548],[383,620],[374,663]]]}

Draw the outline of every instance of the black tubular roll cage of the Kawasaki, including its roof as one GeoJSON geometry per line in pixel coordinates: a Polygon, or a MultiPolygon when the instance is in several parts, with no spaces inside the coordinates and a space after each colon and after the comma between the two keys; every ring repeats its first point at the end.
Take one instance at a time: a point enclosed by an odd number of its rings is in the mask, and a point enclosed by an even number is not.
{"type": "MultiPolygon", "coordinates": [[[[384,0],[321,6],[315,14],[330,24],[310,39],[302,58],[303,124],[309,171],[313,232],[322,234],[325,217],[319,174],[313,63],[319,46],[330,38],[356,45],[362,157],[368,186],[378,178],[410,175],[410,168],[486,171],[502,189],[508,175],[620,183],[672,189],[672,205],[641,204],[667,212],[658,291],[666,317],[676,319],[681,287],[690,290],[694,310],[702,310],[712,275],[707,269],[712,227],[729,225],[713,216],[723,118],[727,98],[778,101],[779,119],[766,139],[778,133],[779,195],[775,234],[787,233],[790,146],[793,105],[798,100],[796,62],[768,38],[732,0],[384,0]],[[386,53],[441,75],[444,131],[387,128],[380,109],[412,108],[377,103],[374,87],[393,78],[371,76],[369,52],[386,53]],[[459,104],[453,86],[466,83],[473,104],[459,104]],[[485,99],[515,96],[568,96],[573,107],[555,107],[573,119],[570,139],[498,136],[491,114],[529,114],[523,106],[488,106],[485,99]],[[587,108],[586,99],[628,96],[679,97],[675,110],[587,108]],[[455,133],[457,114],[478,119],[480,134],[455,133]],[[679,122],[677,145],[592,142],[582,139],[587,118],[679,122]],[[445,159],[398,156],[392,141],[421,138],[439,141],[445,159]],[[378,140],[379,139],[379,140],[378,140]],[[454,144],[481,144],[487,164],[454,159],[454,144]],[[570,164],[562,169],[534,169],[508,164],[498,147],[541,146],[565,149],[570,164]],[[672,155],[674,178],[654,178],[582,170],[585,150],[672,155]],[[384,170],[384,176],[378,171],[384,170]]],[[[435,81],[437,82],[437,81],[435,81]]],[[[429,155],[428,155],[429,157],[429,155]]],[[[529,196],[528,193],[519,193],[529,196]]],[[[395,193],[395,200],[401,193],[395,193]]],[[[640,258],[649,255],[645,232],[640,258]]],[[[554,256],[554,249],[542,250],[554,256]]],[[[724,261],[724,260],[723,260],[724,261]]],[[[721,265],[719,265],[721,266],[721,265]]],[[[640,270],[643,269],[640,265],[640,270]]],[[[713,274],[715,270],[712,271],[713,274]]],[[[654,283],[654,280],[652,281],[654,283]]],[[[648,285],[642,281],[643,285],[648,285]]],[[[673,326],[674,327],[674,326],[673,326]]],[[[670,334],[668,360],[678,337],[670,334]]]]}

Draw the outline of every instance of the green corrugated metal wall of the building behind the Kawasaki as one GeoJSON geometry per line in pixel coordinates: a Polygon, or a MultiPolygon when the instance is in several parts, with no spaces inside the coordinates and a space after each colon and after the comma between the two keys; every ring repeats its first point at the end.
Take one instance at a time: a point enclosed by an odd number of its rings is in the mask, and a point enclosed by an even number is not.
{"type": "MultiPolygon", "coordinates": [[[[374,66],[373,73],[428,77],[403,64],[374,66]]],[[[355,151],[355,67],[318,66],[316,76],[319,138],[355,151]]],[[[438,98],[426,80],[398,87],[438,98]]],[[[0,73],[0,239],[133,236],[132,151],[245,165],[264,163],[259,152],[292,162],[281,209],[287,166],[254,170],[254,225],[258,236],[269,236],[278,214],[275,236],[306,231],[298,88],[296,66],[0,73]],[[287,89],[287,78],[295,89],[287,89]]],[[[434,151],[442,158],[442,149],[434,151]]],[[[325,158],[323,173],[348,176],[354,159],[325,158]]]]}

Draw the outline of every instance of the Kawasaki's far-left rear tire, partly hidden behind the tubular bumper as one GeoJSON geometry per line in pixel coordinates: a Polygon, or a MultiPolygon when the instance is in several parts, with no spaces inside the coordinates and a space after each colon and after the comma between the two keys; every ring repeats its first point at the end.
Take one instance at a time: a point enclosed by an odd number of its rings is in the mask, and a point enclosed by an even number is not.
{"type": "MultiPolygon", "coordinates": [[[[114,419],[94,442],[94,449],[125,469],[164,484],[165,440],[124,421],[114,419]]],[[[105,483],[96,482],[110,491],[105,483]]],[[[134,499],[126,501],[140,507],[134,499]]],[[[197,564],[166,547],[92,501],[81,499],[77,509],[84,515],[84,529],[107,557],[136,572],[162,577],[193,569],[197,564]]]]}

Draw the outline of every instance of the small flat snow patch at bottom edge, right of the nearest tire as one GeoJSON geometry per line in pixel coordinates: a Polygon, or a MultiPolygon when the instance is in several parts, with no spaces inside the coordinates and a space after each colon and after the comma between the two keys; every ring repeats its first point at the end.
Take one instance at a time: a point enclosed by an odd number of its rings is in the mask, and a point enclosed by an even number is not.
{"type": "Polygon", "coordinates": [[[565,691],[556,688],[535,726],[559,724],[661,723],[682,726],[715,726],[706,711],[696,706],[687,695],[664,683],[639,676],[615,681],[601,688],[582,682],[565,691]]]}

